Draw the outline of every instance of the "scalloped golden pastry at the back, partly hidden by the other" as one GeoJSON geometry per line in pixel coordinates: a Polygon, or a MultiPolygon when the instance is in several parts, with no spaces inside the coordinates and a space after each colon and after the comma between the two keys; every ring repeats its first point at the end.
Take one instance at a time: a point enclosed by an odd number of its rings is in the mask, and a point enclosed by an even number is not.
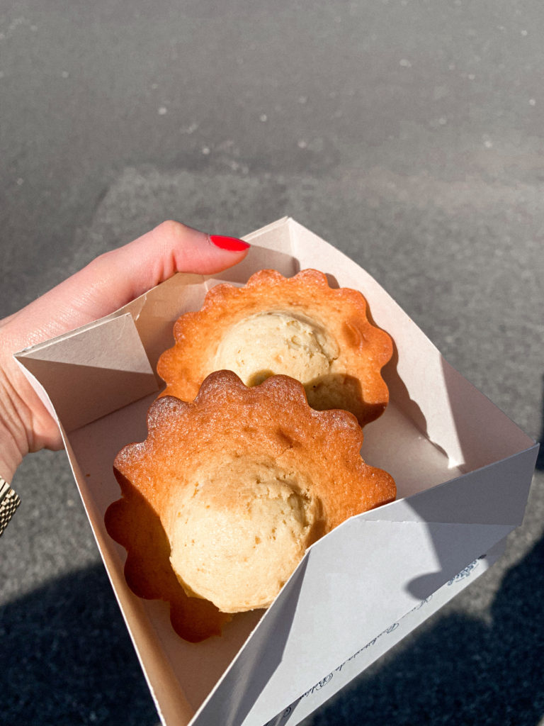
{"type": "Polygon", "coordinates": [[[178,318],[174,338],[157,365],[162,395],[191,401],[215,370],[232,370],[247,386],[289,375],[304,384],[311,407],[345,409],[361,426],[389,400],[381,370],[390,336],[369,322],[361,293],[332,289],[317,270],[289,278],[261,270],[244,287],[217,285],[202,309],[178,318]]]}

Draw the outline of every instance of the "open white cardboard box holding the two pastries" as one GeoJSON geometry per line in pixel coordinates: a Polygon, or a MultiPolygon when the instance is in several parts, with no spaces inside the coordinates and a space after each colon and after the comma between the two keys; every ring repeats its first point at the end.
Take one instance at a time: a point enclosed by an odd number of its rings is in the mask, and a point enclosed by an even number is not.
{"type": "Polygon", "coordinates": [[[91,527],[162,722],[296,724],[479,576],[522,522],[537,445],[453,370],[358,265],[292,219],[253,232],[257,269],[306,267],[354,287],[395,341],[384,369],[390,405],[365,428],[363,458],[395,477],[395,502],[313,544],[268,611],[242,613],[221,638],[191,644],[168,605],[123,577],[125,550],[104,529],[120,490],[118,450],[147,435],[154,375],[173,321],[220,280],[177,275],[112,315],[17,354],[54,412],[91,527]]]}

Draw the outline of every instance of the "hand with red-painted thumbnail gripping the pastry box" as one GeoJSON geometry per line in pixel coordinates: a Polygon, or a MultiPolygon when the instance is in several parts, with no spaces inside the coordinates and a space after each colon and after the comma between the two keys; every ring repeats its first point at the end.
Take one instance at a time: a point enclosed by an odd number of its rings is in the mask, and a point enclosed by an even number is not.
{"type": "Polygon", "coordinates": [[[103,317],[176,272],[215,274],[246,254],[247,248],[223,249],[205,232],[165,221],[128,245],[97,257],[49,293],[1,320],[0,476],[12,481],[29,452],[62,448],[57,423],[18,367],[14,353],[103,317]]]}

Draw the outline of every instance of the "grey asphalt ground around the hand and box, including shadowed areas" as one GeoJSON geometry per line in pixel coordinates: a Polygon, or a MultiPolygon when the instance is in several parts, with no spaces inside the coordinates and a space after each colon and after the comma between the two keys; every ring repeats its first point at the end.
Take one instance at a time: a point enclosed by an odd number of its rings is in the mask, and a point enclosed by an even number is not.
{"type": "MultiPolygon", "coordinates": [[[[0,314],[165,218],[285,214],[543,427],[540,0],[0,1],[0,314]]],[[[505,557],[305,726],[544,723],[544,460],[505,557]]],[[[1,538],[5,723],[154,725],[65,455],[1,538]]]]}

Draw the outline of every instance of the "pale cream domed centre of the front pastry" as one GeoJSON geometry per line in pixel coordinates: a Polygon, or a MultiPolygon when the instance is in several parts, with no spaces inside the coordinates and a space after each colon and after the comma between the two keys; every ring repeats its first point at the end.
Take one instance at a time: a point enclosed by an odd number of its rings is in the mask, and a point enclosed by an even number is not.
{"type": "Polygon", "coordinates": [[[273,465],[243,460],[170,503],[170,563],[187,595],[223,611],[266,608],[315,539],[318,507],[273,465]]]}

